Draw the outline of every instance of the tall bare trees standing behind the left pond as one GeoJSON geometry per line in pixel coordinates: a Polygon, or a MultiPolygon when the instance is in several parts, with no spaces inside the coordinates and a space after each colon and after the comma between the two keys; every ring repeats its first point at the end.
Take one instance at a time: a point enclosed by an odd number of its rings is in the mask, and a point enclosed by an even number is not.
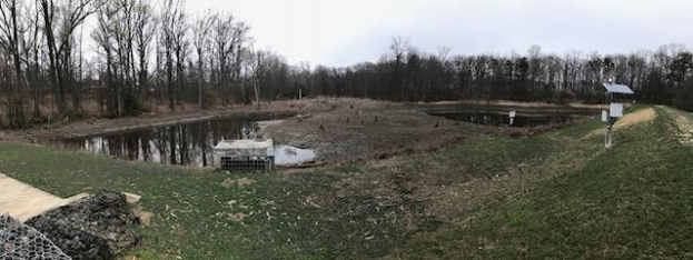
{"type": "Polygon", "coordinates": [[[245,21],[225,11],[192,16],[184,0],[0,3],[0,127],[90,110],[125,117],[158,104],[250,103],[270,83],[267,71],[287,67],[254,48],[245,21]]]}

